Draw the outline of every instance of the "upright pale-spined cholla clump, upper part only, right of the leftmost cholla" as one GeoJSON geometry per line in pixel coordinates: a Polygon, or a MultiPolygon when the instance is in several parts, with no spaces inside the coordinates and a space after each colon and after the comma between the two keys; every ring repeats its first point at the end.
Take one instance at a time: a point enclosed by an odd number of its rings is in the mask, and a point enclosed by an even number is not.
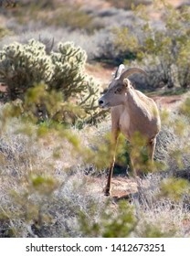
{"type": "Polygon", "coordinates": [[[51,59],[54,74],[49,83],[50,89],[62,91],[65,101],[85,89],[84,65],[87,55],[84,50],[75,48],[73,43],[59,43],[58,52],[52,52],[51,59]]]}

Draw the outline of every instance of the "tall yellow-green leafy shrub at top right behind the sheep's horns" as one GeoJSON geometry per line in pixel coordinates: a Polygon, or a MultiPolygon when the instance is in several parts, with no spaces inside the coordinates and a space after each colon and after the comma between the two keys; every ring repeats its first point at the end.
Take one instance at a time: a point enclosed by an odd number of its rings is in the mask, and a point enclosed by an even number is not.
{"type": "Polygon", "coordinates": [[[141,18],[136,29],[130,31],[122,27],[114,31],[115,45],[123,54],[131,51],[136,59],[142,60],[142,66],[152,76],[150,86],[186,88],[190,74],[189,7],[174,9],[165,2],[159,3],[156,2],[154,8],[163,15],[160,27],[151,26],[144,6],[136,7],[134,14],[141,18]]]}

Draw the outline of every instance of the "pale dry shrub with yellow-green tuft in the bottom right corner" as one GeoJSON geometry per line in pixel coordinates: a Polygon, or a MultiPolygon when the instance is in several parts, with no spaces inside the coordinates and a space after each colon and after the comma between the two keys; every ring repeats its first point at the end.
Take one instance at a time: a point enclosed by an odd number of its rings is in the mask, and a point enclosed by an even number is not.
{"type": "Polygon", "coordinates": [[[167,172],[149,173],[132,197],[138,223],[135,237],[188,237],[189,183],[167,172]],[[170,189],[171,188],[171,189],[170,189]]]}

